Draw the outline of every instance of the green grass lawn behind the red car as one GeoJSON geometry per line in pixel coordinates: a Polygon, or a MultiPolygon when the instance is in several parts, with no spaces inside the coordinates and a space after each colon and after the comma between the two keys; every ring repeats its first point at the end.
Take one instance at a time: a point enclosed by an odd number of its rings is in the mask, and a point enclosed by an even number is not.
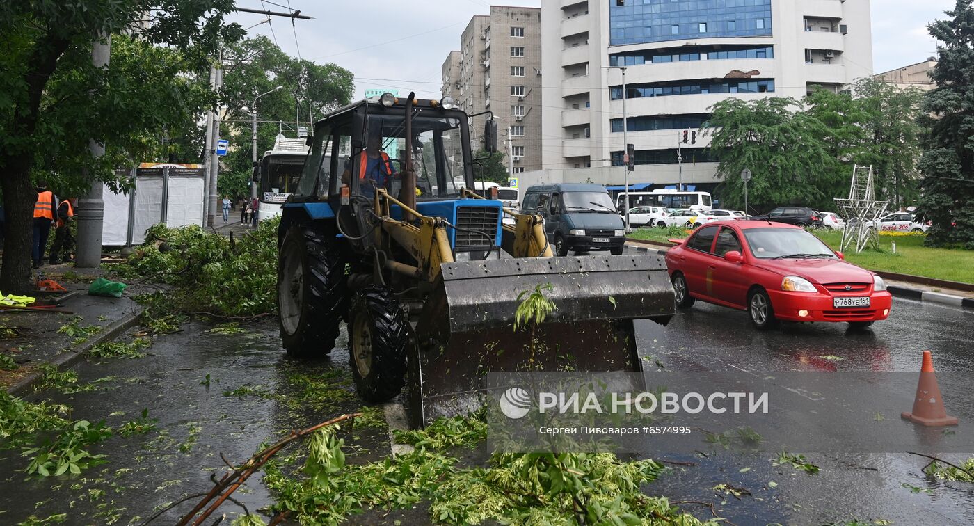
{"type": "MultiPolygon", "coordinates": [[[[842,240],[842,233],[837,231],[821,230],[813,234],[834,249],[839,248],[839,242],[842,240]]],[[[686,237],[686,234],[679,235],[677,230],[662,228],[639,228],[629,237],[665,242],[668,238],[686,237]]],[[[871,270],[974,283],[974,250],[931,248],[923,246],[923,239],[923,236],[915,235],[880,235],[879,251],[866,249],[857,254],[850,250],[845,253],[845,259],[871,270]],[[892,251],[893,243],[896,244],[896,253],[892,251]]]]}

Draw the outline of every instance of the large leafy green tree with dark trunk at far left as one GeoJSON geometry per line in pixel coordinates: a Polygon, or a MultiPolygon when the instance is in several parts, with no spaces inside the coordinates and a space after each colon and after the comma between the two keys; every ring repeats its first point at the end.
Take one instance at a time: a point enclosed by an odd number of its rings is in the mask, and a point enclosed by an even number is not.
{"type": "Polygon", "coordinates": [[[0,3],[7,234],[0,289],[28,289],[33,182],[53,177],[63,196],[112,181],[119,159],[151,149],[159,131],[176,130],[204,101],[215,101],[193,73],[206,71],[207,56],[221,42],[243,34],[224,21],[233,8],[233,0],[0,3]],[[98,35],[112,35],[114,44],[104,68],[91,63],[98,35]],[[109,148],[103,158],[91,155],[92,139],[109,148]]]}

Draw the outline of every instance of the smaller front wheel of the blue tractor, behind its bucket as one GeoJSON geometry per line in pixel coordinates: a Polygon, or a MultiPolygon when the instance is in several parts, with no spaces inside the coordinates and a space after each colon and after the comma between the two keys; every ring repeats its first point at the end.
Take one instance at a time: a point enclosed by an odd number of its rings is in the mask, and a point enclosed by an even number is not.
{"type": "Polygon", "coordinates": [[[365,401],[384,402],[406,383],[409,321],[385,286],[363,288],[352,300],[349,353],[356,391],[365,401]]]}

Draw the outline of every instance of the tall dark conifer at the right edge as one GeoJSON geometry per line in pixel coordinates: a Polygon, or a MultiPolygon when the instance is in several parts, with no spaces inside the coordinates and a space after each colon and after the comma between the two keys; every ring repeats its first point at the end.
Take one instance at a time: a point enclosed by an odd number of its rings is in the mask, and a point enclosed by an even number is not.
{"type": "Polygon", "coordinates": [[[949,19],[927,28],[940,41],[923,111],[933,118],[919,163],[918,213],[930,220],[926,243],[974,249],[974,8],[957,0],[949,19]]]}

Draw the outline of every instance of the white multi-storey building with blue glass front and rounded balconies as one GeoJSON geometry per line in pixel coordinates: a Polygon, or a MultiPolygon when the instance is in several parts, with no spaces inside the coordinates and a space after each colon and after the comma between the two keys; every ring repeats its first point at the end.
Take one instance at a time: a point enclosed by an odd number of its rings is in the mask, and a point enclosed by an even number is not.
{"type": "MultiPolygon", "coordinates": [[[[873,73],[868,0],[543,0],[542,34],[543,168],[596,182],[623,177],[605,168],[622,163],[623,67],[629,180],[656,184],[679,180],[678,142],[714,103],[873,73]]],[[[683,181],[717,182],[708,137],[690,137],[683,181]]]]}

